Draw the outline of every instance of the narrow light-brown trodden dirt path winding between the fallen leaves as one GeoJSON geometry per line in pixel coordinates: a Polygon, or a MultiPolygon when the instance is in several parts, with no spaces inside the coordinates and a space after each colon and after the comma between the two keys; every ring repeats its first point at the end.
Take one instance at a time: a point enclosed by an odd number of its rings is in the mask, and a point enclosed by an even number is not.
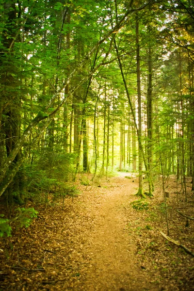
{"type": "Polygon", "coordinates": [[[91,212],[96,226],[85,249],[91,263],[81,278],[80,290],[156,290],[153,283],[150,285],[149,274],[145,274],[137,262],[137,242],[129,237],[126,226],[126,207],[129,207],[130,200],[134,200],[137,180],[133,182],[132,179],[118,177],[113,182],[117,187],[108,191],[91,212]]]}

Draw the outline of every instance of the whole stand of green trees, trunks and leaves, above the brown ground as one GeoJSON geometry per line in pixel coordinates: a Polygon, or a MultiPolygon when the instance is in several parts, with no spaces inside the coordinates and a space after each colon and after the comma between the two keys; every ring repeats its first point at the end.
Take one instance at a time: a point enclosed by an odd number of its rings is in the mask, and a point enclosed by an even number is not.
{"type": "Polygon", "coordinates": [[[139,195],[162,170],[187,199],[193,1],[0,0],[0,16],[0,195],[22,205],[138,162],[139,195]]]}

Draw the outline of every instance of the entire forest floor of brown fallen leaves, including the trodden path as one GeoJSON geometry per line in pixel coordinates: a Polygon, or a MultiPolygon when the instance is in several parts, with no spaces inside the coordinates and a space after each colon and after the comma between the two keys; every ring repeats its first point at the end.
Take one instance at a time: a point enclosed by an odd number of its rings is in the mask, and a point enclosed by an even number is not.
{"type": "MultiPolygon", "coordinates": [[[[60,200],[36,206],[29,228],[0,240],[0,291],[194,290],[194,258],[160,233],[167,234],[162,183],[146,199],[148,209],[135,210],[138,178],[131,175],[102,178],[100,187],[79,183],[80,194],[65,198],[64,209],[60,200]]],[[[174,210],[194,217],[190,181],[187,203],[182,194],[177,199],[174,177],[166,187],[170,237],[194,252],[194,222],[185,227],[174,210]]]]}

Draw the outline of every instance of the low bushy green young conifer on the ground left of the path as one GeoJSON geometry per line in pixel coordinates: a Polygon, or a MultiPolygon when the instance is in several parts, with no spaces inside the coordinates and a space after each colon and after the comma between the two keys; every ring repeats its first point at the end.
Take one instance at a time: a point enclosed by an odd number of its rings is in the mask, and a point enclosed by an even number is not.
{"type": "Polygon", "coordinates": [[[33,164],[26,164],[20,168],[24,175],[23,195],[26,199],[32,198],[38,203],[44,203],[45,194],[52,194],[56,198],[57,193],[65,183],[73,179],[75,167],[73,162],[75,155],[63,153],[60,149],[50,151],[33,151],[33,164]]]}

